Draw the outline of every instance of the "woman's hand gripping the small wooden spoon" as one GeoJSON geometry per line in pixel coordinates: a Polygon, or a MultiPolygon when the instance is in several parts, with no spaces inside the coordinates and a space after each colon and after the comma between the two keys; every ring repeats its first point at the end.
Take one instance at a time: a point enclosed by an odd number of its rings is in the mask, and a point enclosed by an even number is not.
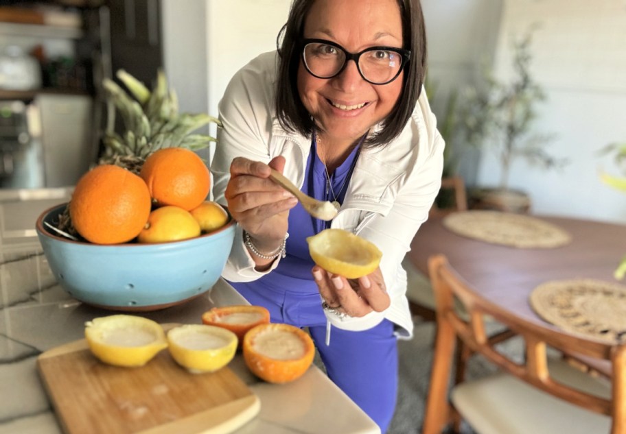
{"type": "Polygon", "coordinates": [[[289,210],[298,203],[291,193],[268,178],[270,167],[282,173],[285,158],[277,156],[268,165],[235,158],[224,192],[231,215],[263,253],[280,247],[287,232],[289,210]]]}

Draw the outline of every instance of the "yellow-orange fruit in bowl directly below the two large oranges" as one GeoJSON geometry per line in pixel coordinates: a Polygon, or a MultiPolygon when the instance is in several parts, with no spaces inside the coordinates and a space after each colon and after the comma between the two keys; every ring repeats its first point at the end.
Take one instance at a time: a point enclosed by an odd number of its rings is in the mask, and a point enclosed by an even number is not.
{"type": "Polygon", "coordinates": [[[156,208],[148,217],[137,241],[139,243],[165,243],[198,237],[200,225],[189,211],[178,206],[156,208]]]}

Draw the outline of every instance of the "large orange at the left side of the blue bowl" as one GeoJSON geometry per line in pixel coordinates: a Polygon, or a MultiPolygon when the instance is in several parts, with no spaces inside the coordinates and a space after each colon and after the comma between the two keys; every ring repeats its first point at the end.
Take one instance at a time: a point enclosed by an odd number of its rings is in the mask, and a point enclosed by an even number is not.
{"type": "Polygon", "coordinates": [[[150,205],[150,192],[139,176],[118,166],[100,165],[78,180],[69,215],[73,227],[91,243],[126,243],[141,232],[150,205]]]}

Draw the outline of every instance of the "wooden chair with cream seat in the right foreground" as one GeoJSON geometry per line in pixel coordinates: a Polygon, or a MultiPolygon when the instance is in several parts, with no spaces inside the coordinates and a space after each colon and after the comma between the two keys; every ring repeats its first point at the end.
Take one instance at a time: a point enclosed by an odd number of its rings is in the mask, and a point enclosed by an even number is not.
{"type": "Polygon", "coordinates": [[[626,433],[626,345],[575,337],[511,315],[467,287],[443,255],[430,258],[429,270],[437,295],[438,331],[424,434],[441,433],[450,422],[458,428],[459,418],[480,434],[626,433]],[[453,309],[454,297],[463,302],[467,320],[453,309]],[[522,337],[524,361],[498,351],[485,332],[486,315],[522,337]],[[457,339],[468,352],[480,354],[500,370],[474,381],[458,381],[450,403],[457,339]],[[572,367],[561,352],[610,361],[612,378],[572,367]]]}

